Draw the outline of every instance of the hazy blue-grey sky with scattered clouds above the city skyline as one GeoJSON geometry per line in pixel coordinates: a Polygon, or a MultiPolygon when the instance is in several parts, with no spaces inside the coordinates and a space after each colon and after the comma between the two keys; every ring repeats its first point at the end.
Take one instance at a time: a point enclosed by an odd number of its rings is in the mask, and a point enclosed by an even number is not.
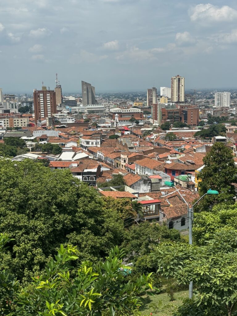
{"type": "Polygon", "coordinates": [[[0,0],[3,93],[237,88],[236,49],[235,0],[0,0]]]}

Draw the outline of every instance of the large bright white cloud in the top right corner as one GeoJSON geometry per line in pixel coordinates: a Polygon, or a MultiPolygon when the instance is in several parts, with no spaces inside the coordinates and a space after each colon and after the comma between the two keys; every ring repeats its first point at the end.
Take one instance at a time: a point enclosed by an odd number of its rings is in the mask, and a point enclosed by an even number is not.
{"type": "Polygon", "coordinates": [[[233,21],[237,18],[237,11],[228,5],[217,7],[213,4],[198,4],[190,12],[191,21],[233,21]]]}

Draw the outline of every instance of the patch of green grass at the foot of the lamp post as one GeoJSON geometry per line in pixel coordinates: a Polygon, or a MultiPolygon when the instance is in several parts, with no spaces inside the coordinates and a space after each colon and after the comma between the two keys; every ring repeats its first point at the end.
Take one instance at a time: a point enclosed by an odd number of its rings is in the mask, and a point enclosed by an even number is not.
{"type": "Polygon", "coordinates": [[[172,316],[177,307],[182,304],[183,299],[188,298],[188,290],[177,292],[174,297],[175,301],[170,301],[167,293],[150,296],[150,300],[145,300],[140,311],[143,315],[152,313],[153,316],[172,316]]]}

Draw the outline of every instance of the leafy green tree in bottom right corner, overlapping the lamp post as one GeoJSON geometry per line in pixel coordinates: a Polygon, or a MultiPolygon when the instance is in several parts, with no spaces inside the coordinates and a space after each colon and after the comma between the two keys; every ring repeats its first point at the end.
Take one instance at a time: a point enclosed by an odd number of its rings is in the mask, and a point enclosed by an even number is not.
{"type": "MultiPolygon", "coordinates": [[[[165,277],[194,285],[194,304],[231,316],[237,304],[236,231],[216,234],[207,246],[161,245],[150,261],[165,277]]],[[[196,314],[197,315],[197,314],[196,314]]]]}

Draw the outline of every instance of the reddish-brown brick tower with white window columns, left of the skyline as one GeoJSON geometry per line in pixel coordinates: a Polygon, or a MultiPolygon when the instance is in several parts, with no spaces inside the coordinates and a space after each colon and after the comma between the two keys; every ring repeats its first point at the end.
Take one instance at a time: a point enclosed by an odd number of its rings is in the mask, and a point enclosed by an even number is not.
{"type": "Polygon", "coordinates": [[[37,124],[39,119],[52,116],[56,113],[56,95],[53,90],[47,90],[42,86],[42,90],[34,89],[34,120],[37,124]]]}

